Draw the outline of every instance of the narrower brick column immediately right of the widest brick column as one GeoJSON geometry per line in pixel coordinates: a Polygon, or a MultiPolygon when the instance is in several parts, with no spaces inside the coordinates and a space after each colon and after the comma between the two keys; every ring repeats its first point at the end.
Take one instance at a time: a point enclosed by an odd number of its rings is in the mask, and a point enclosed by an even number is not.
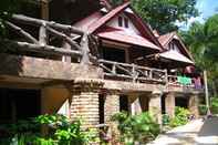
{"type": "Polygon", "coordinates": [[[111,92],[106,95],[104,104],[104,122],[108,123],[111,116],[120,112],[120,95],[116,92],[111,92]]]}

